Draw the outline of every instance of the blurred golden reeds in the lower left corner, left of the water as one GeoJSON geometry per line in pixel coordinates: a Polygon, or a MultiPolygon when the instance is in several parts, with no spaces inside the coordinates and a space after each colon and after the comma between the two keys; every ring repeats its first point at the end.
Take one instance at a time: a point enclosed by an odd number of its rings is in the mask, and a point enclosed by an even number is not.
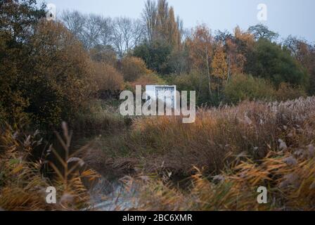
{"type": "MultiPolygon", "coordinates": [[[[98,174],[84,167],[84,162],[70,154],[71,134],[63,124],[63,137],[58,136],[63,152],[53,146],[43,157],[34,160],[34,149],[41,145],[38,132],[24,136],[7,126],[0,135],[0,207],[3,210],[80,210],[91,207],[84,186],[98,174]],[[53,155],[61,165],[48,161],[53,155]],[[47,170],[48,169],[48,170],[47,170]],[[47,176],[45,171],[52,172],[47,176]],[[57,203],[46,203],[46,188],[57,191],[57,203]]],[[[83,148],[81,150],[84,150],[83,148]]]]}

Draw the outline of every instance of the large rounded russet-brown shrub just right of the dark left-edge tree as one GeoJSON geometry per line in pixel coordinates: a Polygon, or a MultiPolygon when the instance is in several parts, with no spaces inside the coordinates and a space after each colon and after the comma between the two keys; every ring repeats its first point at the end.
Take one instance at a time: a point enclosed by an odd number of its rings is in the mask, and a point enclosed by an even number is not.
{"type": "Polygon", "coordinates": [[[89,56],[60,23],[42,20],[30,39],[30,76],[21,87],[37,124],[72,120],[95,92],[89,56]]]}

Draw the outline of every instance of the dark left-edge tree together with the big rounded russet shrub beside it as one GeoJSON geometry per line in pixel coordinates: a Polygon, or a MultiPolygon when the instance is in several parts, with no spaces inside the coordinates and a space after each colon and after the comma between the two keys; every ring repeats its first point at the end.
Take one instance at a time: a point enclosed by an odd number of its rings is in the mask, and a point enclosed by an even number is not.
{"type": "Polygon", "coordinates": [[[1,4],[0,120],[37,127],[72,120],[94,92],[89,56],[36,1],[1,4]]]}

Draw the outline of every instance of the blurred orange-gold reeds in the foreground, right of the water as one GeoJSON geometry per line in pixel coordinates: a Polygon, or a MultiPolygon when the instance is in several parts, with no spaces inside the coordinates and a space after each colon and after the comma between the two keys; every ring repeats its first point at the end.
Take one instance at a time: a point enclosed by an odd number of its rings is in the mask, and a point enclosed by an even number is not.
{"type": "Polygon", "coordinates": [[[315,210],[315,150],[270,151],[253,161],[236,158],[217,176],[196,169],[191,187],[180,191],[158,179],[141,179],[138,210],[315,210]],[[257,203],[257,188],[268,191],[268,203],[257,203]]]}

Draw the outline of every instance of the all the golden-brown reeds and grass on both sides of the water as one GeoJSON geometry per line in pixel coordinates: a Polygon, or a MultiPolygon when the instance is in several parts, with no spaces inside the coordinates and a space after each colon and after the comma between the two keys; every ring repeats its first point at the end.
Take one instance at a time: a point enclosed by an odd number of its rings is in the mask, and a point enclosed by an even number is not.
{"type": "MultiPolygon", "coordinates": [[[[51,146],[38,160],[31,157],[38,134],[14,130],[1,130],[0,207],[93,210],[84,178],[98,174],[70,153],[65,124],[63,136],[57,134],[63,153],[51,146]],[[47,186],[58,190],[56,205],[45,202],[47,186]]],[[[108,140],[80,151],[98,168],[134,172],[126,191],[136,187],[136,210],[315,210],[314,97],[200,108],[194,124],[180,117],[137,119],[130,132],[108,140]],[[174,185],[179,176],[184,186],[174,185]],[[259,186],[268,189],[266,205],[257,204],[259,186]]]]}

